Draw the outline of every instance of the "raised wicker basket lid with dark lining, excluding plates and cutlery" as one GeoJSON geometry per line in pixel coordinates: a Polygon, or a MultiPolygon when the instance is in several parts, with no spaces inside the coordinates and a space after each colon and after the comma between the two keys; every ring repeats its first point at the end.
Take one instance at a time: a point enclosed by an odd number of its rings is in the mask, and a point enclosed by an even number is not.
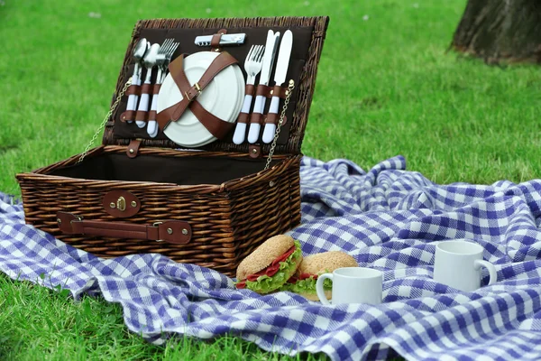
{"type": "MultiPolygon", "coordinates": [[[[213,35],[222,29],[227,33],[245,33],[245,42],[240,46],[224,46],[222,51],[227,51],[238,60],[243,71],[244,60],[252,45],[265,44],[267,32],[273,30],[283,34],[286,30],[293,32],[293,47],[289,60],[286,84],[289,79],[295,81],[295,89],[289,99],[286,112],[286,123],[280,130],[280,136],[274,153],[298,154],[304,137],[307,117],[316,87],[316,71],[329,18],[327,16],[316,17],[268,17],[268,18],[215,18],[215,19],[151,19],[142,20],[135,24],[132,39],[124,57],[124,64],[120,69],[120,75],[116,83],[116,95],[124,88],[126,81],[132,76],[134,68],[133,48],[140,39],[145,38],[151,43],[163,43],[166,39],[173,38],[179,42],[179,48],[173,54],[173,60],[180,54],[190,54],[197,51],[209,51],[210,48],[202,48],[195,44],[195,37],[199,35],[213,35]]],[[[276,55],[276,57],[278,54],[276,55]]],[[[276,61],[274,64],[276,67],[276,61]]],[[[271,72],[270,85],[273,84],[271,72]]],[[[256,78],[256,79],[259,79],[256,78]]],[[[257,81],[256,81],[257,86],[257,81]]],[[[121,121],[121,114],[127,107],[128,97],[124,95],[113,115],[105,124],[103,143],[105,145],[127,145],[133,139],[140,139],[142,146],[184,148],[170,139],[161,131],[151,138],[145,128],[139,128],[135,123],[121,121]]],[[[112,102],[112,104],[113,104],[112,102]]],[[[267,107],[270,101],[267,101],[267,107]]],[[[281,110],[281,108],[280,108],[281,110]]],[[[249,143],[233,143],[234,130],[225,135],[223,139],[216,140],[204,146],[197,147],[199,150],[214,152],[239,152],[247,153],[249,143]]],[[[261,146],[262,153],[269,153],[271,144],[257,143],[261,146]]]]}

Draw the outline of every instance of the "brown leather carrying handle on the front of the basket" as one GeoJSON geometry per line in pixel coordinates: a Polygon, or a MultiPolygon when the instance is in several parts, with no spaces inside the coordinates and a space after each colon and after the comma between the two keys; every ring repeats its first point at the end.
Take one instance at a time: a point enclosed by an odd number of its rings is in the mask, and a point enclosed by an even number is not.
{"type": "Polygon", "coordinates": [[[192,236],[188,222],[166,220],[152,225],[138,225],[128,222],[86,220],[68,212],[57,213],[60,231],[67,235],[110,236],[116,238],[147,239],[186,245],[192,236]]]}

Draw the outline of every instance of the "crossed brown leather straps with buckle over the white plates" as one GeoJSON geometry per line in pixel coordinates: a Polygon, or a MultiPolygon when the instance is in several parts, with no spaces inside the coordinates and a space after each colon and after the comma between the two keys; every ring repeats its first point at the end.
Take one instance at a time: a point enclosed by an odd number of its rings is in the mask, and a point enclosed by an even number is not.
{"type": "Polygon", "coordinates": [[[171,121],[176,122],[179,120],[180,116],[182,116],[189,107],[199,122],[201,122],[211,134],[218,139],[223,138],[225,134],[233,128],[234,123],[225,122],[208,113],[197,101],[197,96],[201,94],[209,82],[214,79],[216,74],[235,63],[237,63],[237,60],[234,59],[233,56],[228,52],[222,52],[215,60],[213,60],[201,79],[193,86],[190,86],[186,73],[184,72],[184,55],[181,55],[176,60],[172,61],[169,65],[170,74],[173,80],[175,80],[177,87],[179,87],[180,92],[183,94],[183,98],[179,103],[158,113],[156,121],[158,122],[160,130],[163,130],[171,121]]]}

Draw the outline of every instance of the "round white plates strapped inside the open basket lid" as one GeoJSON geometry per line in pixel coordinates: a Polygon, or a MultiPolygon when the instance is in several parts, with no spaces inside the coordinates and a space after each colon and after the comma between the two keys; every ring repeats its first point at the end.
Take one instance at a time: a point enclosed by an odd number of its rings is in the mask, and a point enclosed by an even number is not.
{"type": "MultiPolygon", "coordinates": [[[[201,51],[186,57],[184,72],[188,82],[193,85],[199,81],[218,55],[219,53],[212,51],[201,51]]],[[[244,87],[243,72],[238,65],[230,65],[211,80],[197,97],[197,101],[214,116],[234,123],[243,107],[244,87]]],[[[183,94],[180,93],[175,80],[168,74],[160,88],[157,111],[174,106],[182,98],[183,94]]],[[[163,133],[171,141],[187,147],[199,147],[216,140],[189,108],[178,121],[170,122],[163,133]]]]}

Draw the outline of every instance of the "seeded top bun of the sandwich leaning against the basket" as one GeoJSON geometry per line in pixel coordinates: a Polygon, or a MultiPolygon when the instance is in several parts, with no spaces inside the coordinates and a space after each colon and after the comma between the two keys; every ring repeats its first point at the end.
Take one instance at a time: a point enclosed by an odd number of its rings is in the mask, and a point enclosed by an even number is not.
{"type": "Polygon", "coordinates": [[[295,245],[294,242],[291,236],[286,235],[272,236],[267,239],[239,264],[236,273],[237,280],[245,280],[248,274],[258,273],[267,268],[272,261],[288,252],[289,248],[295,245]]]}

